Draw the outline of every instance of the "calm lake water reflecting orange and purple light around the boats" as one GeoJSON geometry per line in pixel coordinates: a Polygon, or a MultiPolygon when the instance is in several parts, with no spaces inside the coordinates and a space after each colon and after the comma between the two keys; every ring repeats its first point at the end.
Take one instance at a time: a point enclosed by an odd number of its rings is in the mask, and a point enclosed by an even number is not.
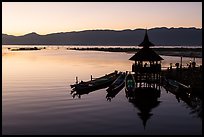
{"type": "MultiPolygon", "coordinates": [[[[2,133],[66,135],[202,135],[197,110],[161,87],[158,105],[144,126],[141,108],[126,98],[124,88],[111,101],[106,88],[70,94],[70,85],[115,70],[130,71],[133,54],[73,51],[64,47],[39,51],[2,49],[2,133]]],[[[180,62],[162,56],[163,67],[180,62]]],[[[186,64],[191,58],[183,58],[186,64]]],[[[198,65],[202,59],[196,58],[198,65]]]]}

